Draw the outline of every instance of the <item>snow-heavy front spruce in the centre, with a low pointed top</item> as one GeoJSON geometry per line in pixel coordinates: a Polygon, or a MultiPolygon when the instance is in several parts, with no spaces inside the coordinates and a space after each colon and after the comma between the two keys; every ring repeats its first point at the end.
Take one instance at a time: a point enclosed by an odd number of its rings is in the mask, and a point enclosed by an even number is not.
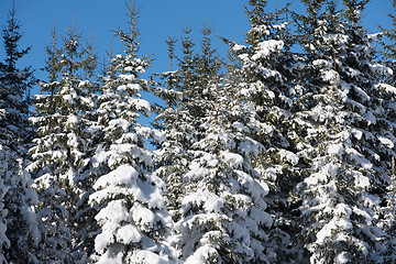
{"type": "Polygon", "coordinates": [[[268,189],[250,160],[262,145],[243,134],[238,105],[229,98],[237,89],[223,88],[216,67],[210,74],[201,75],[211,80],[202,87],[202,132],[188,150],[191,161],[183,177],[174,241],[186,263],[271,263],[265,246],[265,228],[272,223],[264,201],[268,189]]]}

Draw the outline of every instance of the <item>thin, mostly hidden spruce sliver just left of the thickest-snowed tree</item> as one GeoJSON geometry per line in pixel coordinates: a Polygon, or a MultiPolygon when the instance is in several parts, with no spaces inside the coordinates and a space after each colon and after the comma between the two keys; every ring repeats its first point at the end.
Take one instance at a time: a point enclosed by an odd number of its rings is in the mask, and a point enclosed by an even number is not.
{"type": "Polygon", "coordinates": [[[88,100],[90,100],[90,108],[87,108],[84,114],[85,127],[81,128],[81,135],[85,140],[85,152],[81,156],[81,166],[74,178],[74,183],[79,191],[79,198],[76,204],[77,211],[74,216],[75,232],[78,234],[75,238],[74,257],[79,260],[80,263],[84,263],[84,261],[95,252],[94,239],[98,230],[97,222],[95,221],[96,210],[89,204],[89,196],[94,191],[94,184],[97,179],[92,176],[89,165],[91,164],[90,161],[95,155],[100,138],[95,129],[98,121],[97,98],[100,89],[97,76],[95,75],[98,56],[94,51],[92,36],[85,43],[81,56],[84,59],[80,62],[80,68],[84,73],[84,80],[80,82],[80,87],[89,92],[88,100]]]}

